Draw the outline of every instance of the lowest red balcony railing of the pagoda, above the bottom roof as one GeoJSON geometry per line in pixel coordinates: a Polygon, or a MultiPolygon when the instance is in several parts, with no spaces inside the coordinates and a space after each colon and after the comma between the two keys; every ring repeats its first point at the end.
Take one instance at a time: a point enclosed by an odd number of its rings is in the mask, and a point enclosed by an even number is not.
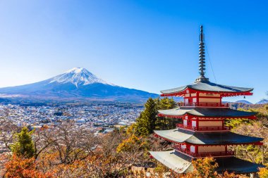
{"type": "Polygon", "coordinates": [[[233,156],[236,154],[235,151],[217,151],[217,152],[193,153],[186,148],[181,148],[181,146],[174,146],[174,149],[176,149],[176,151],[179,151],[181,153],[185,153],[186,155],[191,155],[195,158],[210,157],[210,156],[212,156],[212,157],[225,157],[225,156],[233,156]]]}

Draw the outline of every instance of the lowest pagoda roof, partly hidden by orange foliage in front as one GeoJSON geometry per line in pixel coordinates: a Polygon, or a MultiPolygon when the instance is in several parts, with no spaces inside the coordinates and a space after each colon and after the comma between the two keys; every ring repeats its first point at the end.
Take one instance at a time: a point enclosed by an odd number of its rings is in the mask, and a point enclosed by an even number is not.
{"type": "MultiPolygon", "coordinates": [[[[193,171],[193,158],[178,151],[150,151],[150,154],[160,163],[180,174],[193,171]]],[[[240,160],[236,157],[215,158],[215,160],[219,164],[217,172],[227,170],[235,174],[246,174],[258,172],[259,167],[264,167],[264,165],[251,163],[247,160],[240,160]]]]}

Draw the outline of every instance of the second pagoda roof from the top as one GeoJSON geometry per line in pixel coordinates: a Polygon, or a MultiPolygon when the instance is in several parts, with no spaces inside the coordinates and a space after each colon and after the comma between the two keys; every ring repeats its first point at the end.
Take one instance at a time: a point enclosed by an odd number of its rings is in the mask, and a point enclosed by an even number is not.
{"type": "Polygon", "coordinates": [[[169,110],[158,110],[160,116],[176,117],[183,115],[207,116],[207,117],[250,117],[256,113],[230,108],[174,108],[169,110]]]}

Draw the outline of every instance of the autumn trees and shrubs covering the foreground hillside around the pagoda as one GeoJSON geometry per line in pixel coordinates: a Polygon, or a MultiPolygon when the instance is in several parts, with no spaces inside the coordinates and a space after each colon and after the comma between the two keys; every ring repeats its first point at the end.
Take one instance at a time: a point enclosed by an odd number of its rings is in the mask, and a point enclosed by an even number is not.
{"type": "MultiPolygon", "coordinates": [[[[148,151],[171,149],[168,142],[156,139],[154,129],[173,129],[179,120],[157,117],[157,110],[176,107],[172,98],[152,99],[145,103],[137,122],[129,127],[115,129],[102,136],[77,128],[74,122],[61,122],[55,127],[28,130],[16,127],[6,117],[1,118],[0,141],[9,153],[0,157],[2,177],[162,177],[170,172],[167,167],[150,158],[148,151]]],[[[240,108],[257,113],[257,120],[227,120],[232,132],[264,137],[262,146],[233,146],[236,156],[254,163],[268,163],[268,105],[240,108]],[[263,148],[263,151],[262,151],[263,148]]],[[[213,158],[197,159],[195,171],[178,175],[170,172],[167,177],[233,177],[218,174],[213,158]]],[[[267,176],[267,169],[260,170],[260,177],[267,176]]]]}

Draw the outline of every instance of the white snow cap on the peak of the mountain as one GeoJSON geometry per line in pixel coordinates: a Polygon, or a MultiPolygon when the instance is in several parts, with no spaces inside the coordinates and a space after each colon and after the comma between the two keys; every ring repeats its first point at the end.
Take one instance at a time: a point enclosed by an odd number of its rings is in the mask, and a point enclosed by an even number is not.
{"type": "Polygon", "coordinates": [[[68,70],[63,74],[52,78],[49,83],[53,82],[58,82],[61,84],[70,82],[74,84],[77,88],[81,85],[94,84],[94,83],[110,84],[102,79],[99,79],[96,75],[92,74],[85,68],[72,68],[71,70],[68,70]]]}

